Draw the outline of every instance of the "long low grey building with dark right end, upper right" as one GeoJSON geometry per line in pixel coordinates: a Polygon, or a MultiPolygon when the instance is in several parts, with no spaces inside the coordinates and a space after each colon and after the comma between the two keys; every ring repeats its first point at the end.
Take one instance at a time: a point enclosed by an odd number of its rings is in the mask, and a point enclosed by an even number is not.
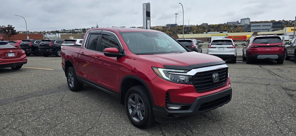
{"type": "Polygon", "coordinates": [[[273,23],[252,23],[249,24],[249,30],[252,32],[260,31],[277,31],[283,29],[282,22],[273,22],[273,23]]]}

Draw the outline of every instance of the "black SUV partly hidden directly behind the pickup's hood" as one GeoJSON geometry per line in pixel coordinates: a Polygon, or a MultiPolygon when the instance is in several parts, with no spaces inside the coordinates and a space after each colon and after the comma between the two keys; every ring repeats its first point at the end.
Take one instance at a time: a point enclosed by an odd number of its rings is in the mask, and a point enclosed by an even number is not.
{"type": "Polygon", "coordinates": [[[199,44],[196,39],[177,39],[177,41],[194,52],[202,53],[202,44],[199,44]]]}

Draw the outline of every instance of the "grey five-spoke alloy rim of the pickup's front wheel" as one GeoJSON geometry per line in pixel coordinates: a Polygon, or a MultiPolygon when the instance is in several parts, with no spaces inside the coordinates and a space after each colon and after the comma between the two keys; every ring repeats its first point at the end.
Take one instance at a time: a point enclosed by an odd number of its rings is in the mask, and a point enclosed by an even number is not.
{"type": "Polygon", "coordinates": [[[136,122],[141,122],[145,117],[143,100],[138,94],[131,94],[128,98],[128,112],[136,122]]]}

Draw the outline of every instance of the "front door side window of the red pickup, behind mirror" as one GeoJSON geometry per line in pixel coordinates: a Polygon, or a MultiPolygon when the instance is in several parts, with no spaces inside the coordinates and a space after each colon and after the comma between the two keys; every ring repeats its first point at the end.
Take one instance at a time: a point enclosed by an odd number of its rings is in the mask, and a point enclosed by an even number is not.
{"type": "Polygon", "coordinates": [[[119,44],[109,35],[102,35],[102,42],[99,52],[104,52],[106,48],[117,48],[119,50],[119,44]]]}

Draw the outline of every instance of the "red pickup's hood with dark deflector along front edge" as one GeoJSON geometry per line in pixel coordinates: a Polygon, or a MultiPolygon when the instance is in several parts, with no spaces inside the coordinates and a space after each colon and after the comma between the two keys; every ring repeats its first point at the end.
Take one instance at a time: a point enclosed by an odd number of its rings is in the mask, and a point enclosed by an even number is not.
{"type": "Polygon", "coordinates": [[[219,57],[197,52],[138,55],[138,57],[141,59],[157,62],[163,67],[169,69],[191,70],[199,67],[225,64],[225,62],[219,57]]]}

